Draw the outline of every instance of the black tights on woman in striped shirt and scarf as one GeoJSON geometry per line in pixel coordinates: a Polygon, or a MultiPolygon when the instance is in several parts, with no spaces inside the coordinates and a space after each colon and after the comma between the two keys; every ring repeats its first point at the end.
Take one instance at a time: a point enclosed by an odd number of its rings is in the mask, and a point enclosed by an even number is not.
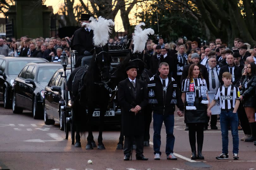
{"type": "Polygon", "coordinates": [[[189,143],[190,143],[191,150],[193,152],[193,150],[196,149],[196,133],[197,133],[197,144],[201,146],[200,148],[203,147],[204,123],[187,123],[187,125],[189,127],[189,130],[188,130],[189,143]]]}

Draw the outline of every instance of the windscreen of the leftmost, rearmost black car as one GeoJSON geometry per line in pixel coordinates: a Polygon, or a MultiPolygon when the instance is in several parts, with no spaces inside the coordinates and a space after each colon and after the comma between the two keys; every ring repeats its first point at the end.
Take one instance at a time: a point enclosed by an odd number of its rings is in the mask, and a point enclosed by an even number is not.
{"type": "Polygon", "coordinates": [[[22,68],[30,62],[42,62],[42,61],[9,61],[8,75],[18,75],[22,68]]]}

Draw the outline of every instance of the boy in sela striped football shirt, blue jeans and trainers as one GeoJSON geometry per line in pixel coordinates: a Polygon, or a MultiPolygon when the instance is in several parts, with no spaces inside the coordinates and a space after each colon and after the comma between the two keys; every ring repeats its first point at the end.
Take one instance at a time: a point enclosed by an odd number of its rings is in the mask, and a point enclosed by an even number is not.
{"type": "Polygon", "coordinates": [[[240,91],[238,87],[231,84],[232,74],[224,72],[222,74],[222,81],[224,85],[220,86],[207,109],[207,115],[211,115],[211,108],[220,100],[221,106],[221,136],[222,136],[222,154],[217,156],[216,159],[229,159],[228,145],[229,145],[229,126],[231,126],[231,133],[233,137],[233,159],[237,160],[238,157],[238,116],[237,108],[240,103],[240,91]]]}

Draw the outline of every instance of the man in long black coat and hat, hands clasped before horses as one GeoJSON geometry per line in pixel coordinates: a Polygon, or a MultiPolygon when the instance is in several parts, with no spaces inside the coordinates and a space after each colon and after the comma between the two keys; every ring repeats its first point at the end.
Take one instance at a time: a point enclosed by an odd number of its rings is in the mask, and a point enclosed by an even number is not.
{"type": "Polygon", "coordinates": [[[145,82],[136,79],[137,66],[132,63],[125,69],[128,78],[119,82],[118,102],[121,106],[122,130],[125,136],[124,160],[131,156],[133,141],[136,142],[136,159],[148,160],[143,155],[144,108],[148,102],[145,82]]]}

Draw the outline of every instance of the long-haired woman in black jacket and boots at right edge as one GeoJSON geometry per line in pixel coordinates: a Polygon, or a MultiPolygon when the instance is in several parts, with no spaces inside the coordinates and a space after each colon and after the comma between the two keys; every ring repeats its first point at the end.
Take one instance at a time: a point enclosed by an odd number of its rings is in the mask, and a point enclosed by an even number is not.
{"type": "Polygon", "coordinates": [[[255,122],[255,103],[256,103],[256,65],[251,62],[247,65],[247,75],[242,83],[241,99],[244,103],[245,112],[250,123],[252,137],[247,138],[245,142],[256,140],[256,122],[255,122]]]}

